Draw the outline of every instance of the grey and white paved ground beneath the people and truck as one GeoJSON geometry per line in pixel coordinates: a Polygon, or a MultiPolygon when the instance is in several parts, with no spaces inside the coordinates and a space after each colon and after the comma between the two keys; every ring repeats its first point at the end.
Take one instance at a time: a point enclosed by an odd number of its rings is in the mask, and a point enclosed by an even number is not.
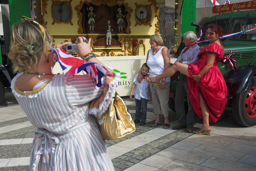
{"type": "MultiPolygon", "coordinates": [[[[29,170],[29,158],[35,127],[32,126],[12,94],[0,105],[0,171],[29,170]]],[[[123,98],[131,116],[135,115],[134,99],[123,98]]],[[[184,129],[163,129],[154,122],[152,104],[148,102],[146,125],[136,125],[131,136],[119,141],[106,141],[116,171],[122,170],[256,170],[256,126],[236,124],[231,112],[211,125],[212,136],[185,133],[184,129]]],[[[171,127],[176,114],[169,111],[171,127]]],[[[201,127],[197,119],[195,128],[201,127]]]]}

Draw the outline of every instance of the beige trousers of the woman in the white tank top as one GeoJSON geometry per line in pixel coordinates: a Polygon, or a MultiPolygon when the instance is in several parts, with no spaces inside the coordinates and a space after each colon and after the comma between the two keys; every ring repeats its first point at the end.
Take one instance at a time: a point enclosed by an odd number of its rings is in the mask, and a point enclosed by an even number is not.
{"type": "Polygon", "coordinates": [[[149,88],[152,95],[154,114],[163,114],[164,117],[168,117],[170,82],[166,83],[165,89],[161,89],[160,85],[154,87],[152,84],[149,84],[149,88]]]}

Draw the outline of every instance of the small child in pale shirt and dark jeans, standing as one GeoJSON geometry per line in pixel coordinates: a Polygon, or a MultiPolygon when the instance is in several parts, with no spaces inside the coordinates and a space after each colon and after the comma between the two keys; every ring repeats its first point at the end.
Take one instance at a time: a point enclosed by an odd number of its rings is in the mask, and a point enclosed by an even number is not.
{"type": "Polygon", "coordinates": [[[143,74],[143,80],[141,83],[137,81],[138,74],[134,78],[134,83],[131,86],[130,98],[132,98],[132,92],[135,88],[135,104],[136,104],[136,114],[134,123],[140,123],[140,125],[145,125],[146,115],[147,115],[147,103],[148,103],[148,83],[145,78],[148,75],[149,67],[146,63],[143,63],[141,67],[141,73],[143,74]]]}

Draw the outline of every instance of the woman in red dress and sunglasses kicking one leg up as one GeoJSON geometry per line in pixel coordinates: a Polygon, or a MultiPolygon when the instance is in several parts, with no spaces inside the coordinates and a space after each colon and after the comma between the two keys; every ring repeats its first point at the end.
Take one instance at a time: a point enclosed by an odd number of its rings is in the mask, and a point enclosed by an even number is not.
{"type": "Polygon", "coordinates": [[[216,24],[209,26],[207,39],[210,44],[201,49],[197,62],[189,65],[174,63],[163,74],[147,78],[149,83],[156,84],[161,79],[172,76],[176,71],[187,76],[190,101],[198,117],[203,119],[203,127],[195,134],[211,135],[209,121],[218,121],[227,102],[227,86],[216,66],[222,61],[224,54],[219,38],[223,35],[222,31],[223,28],[216,24]]]}

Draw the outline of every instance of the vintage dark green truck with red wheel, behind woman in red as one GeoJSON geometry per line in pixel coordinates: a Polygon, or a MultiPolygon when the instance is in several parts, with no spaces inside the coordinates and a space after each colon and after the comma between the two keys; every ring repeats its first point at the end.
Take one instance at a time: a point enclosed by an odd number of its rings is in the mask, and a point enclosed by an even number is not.
{"type": "MultiPolygon", "coordinates": [[[[203,23],[198,23],[203,28],[211,24],[222,26],[224,34],[246,31],[256,27],[256,10],[218,14],[207,18],[203,23]]],[[[205,34],[201,40],[207,40],[205,34]]],[[[208,43],[199,44],[207,45],[208,43]]],[[[232,107],[233,117],[240,125],[256,125],[256,30],[222,39],[222,45],[224,55],[233,51],[238,66],[233,72],[228,63],[218,63],[227,84],[227,106],[232,107]]],[[[177,76],[173,76],[172,79],[177,80],[177,76]]],[[[170,88],[169,107],[172,110],[175,110],[174,97],[175,88],[170,88]]]]}

